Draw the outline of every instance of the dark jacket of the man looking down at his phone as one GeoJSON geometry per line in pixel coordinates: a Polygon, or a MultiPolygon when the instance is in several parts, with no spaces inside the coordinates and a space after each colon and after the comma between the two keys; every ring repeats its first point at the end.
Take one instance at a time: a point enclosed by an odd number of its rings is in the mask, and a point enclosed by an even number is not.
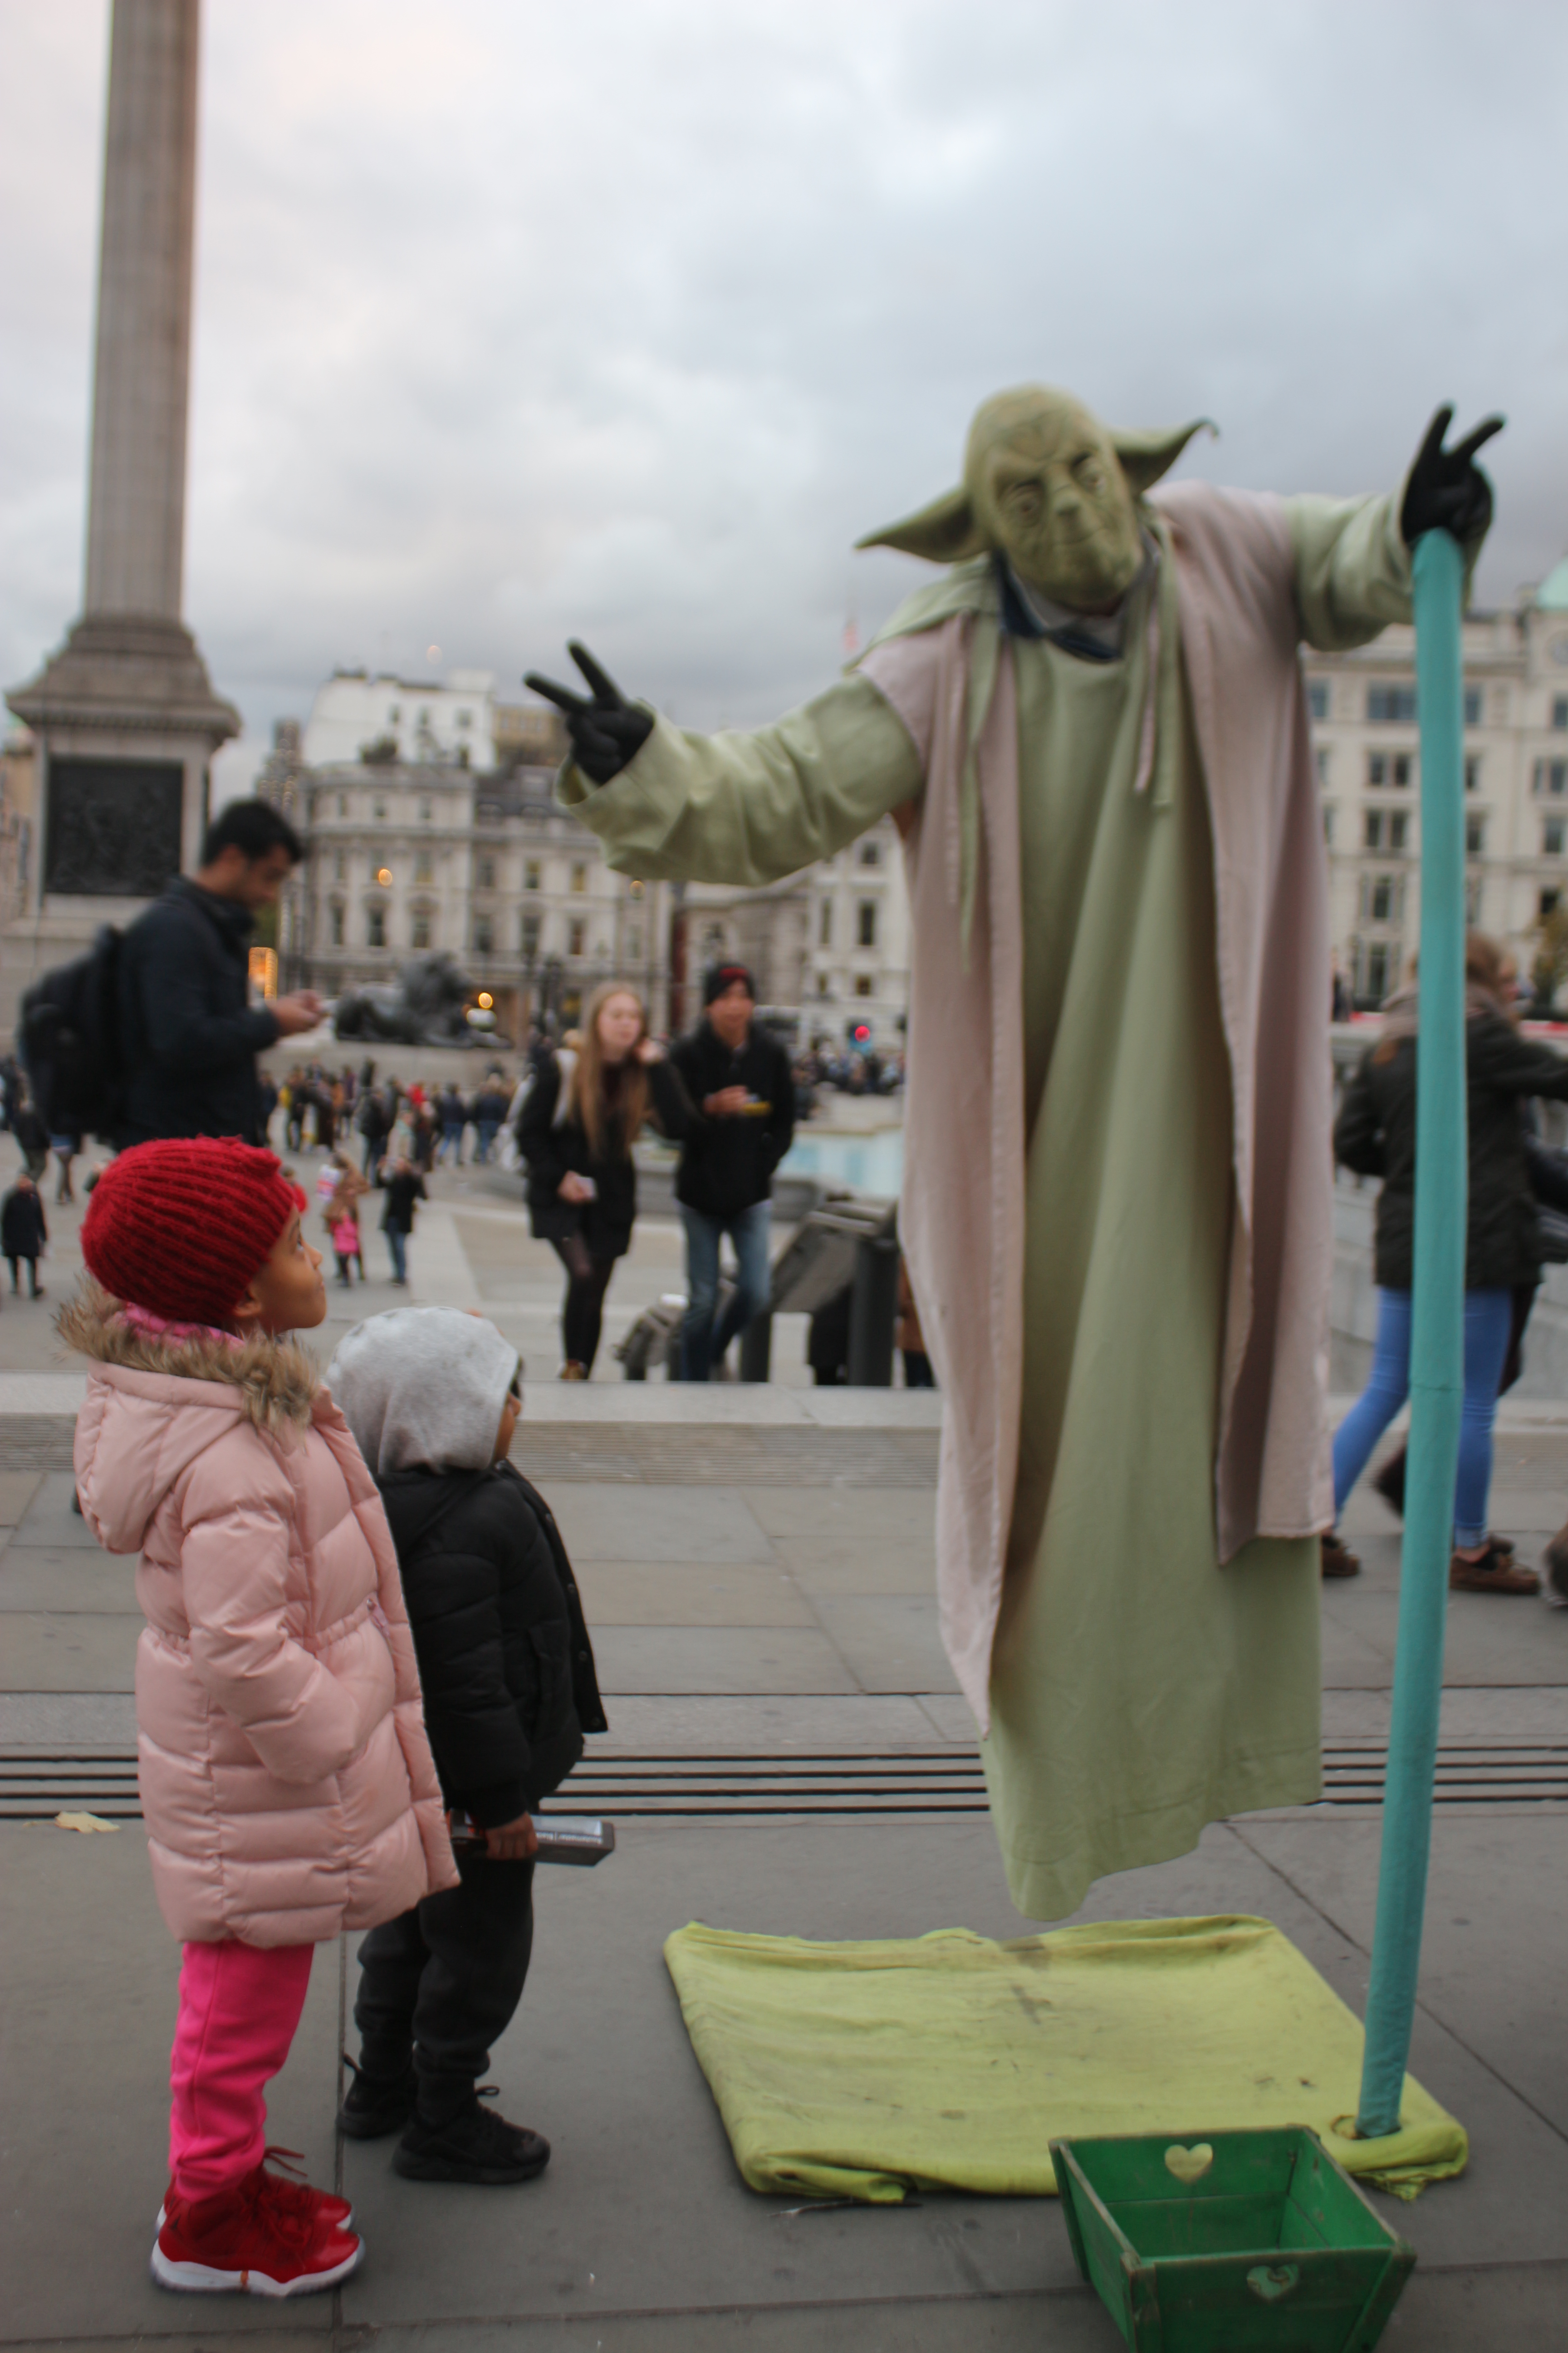
{"type": "Polygon", "coordinates": [[[242,1136],[261,1144],[256,1054],[277,1016],[249,1002],[249,908],[179,875],[120,946],[125,1125],[118,1144],[153,1136],[242,1136]]]}

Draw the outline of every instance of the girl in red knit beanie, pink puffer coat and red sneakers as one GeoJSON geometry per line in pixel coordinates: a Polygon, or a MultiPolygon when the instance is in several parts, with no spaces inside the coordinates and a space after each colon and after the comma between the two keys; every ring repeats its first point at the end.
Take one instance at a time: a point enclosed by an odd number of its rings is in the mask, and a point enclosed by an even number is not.
{"type": "Polygon", "coordinates": [[[310,1955],[456,1885],[397,1555],[289,1332],[327,1315],[303,1193],[235,1139],[136,1144],[99,1179],[61,1315],[94,1358],[82,1515],[141,1553],[141,1807],[183,1944],[165,2287],[292,2297],[362,2257],[341,2198],[266,2172],[266,2085],[310,1955]]]}

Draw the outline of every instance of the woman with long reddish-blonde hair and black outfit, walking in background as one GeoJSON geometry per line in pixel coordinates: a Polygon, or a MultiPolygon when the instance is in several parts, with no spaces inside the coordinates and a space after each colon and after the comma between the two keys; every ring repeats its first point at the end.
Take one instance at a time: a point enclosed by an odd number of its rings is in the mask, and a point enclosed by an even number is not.
{"type": "Polygon", "coordinates": [[[677,1139],[689,1104],[663,1045],[649,1038],[642,998],[623,981],[595,988],[581,1045],[543,1064],[517,1120],[529,1162],[534,1233],[567,1268],[562,1381],[585,1381],[599,1348],[604,1292],[632,1247],[644,1122],[677,1139]]]}

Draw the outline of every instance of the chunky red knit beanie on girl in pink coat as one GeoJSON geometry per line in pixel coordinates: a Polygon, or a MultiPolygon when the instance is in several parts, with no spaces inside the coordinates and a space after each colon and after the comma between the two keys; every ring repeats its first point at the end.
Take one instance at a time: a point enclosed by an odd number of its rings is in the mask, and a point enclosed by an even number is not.
{"type": "Polygon", "coordinates": [[[277,1153],[237,1136],[134,1144],[99,1176],[82,1219],[87,1273],[127,1306],[226,1325],[306,1195],[277,1153]]]}

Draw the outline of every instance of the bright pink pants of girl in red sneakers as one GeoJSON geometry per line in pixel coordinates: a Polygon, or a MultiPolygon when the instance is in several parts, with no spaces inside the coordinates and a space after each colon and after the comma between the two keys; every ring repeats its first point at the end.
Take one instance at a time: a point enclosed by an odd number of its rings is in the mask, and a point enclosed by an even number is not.
{"type": "Polygon", "coordinates": [[[169,2172],[181,2198],[240,2181],[266,2148],[263,2092],[306,2007],[313,1944],[188,1944],[169,2054],[169,2172]]]}

